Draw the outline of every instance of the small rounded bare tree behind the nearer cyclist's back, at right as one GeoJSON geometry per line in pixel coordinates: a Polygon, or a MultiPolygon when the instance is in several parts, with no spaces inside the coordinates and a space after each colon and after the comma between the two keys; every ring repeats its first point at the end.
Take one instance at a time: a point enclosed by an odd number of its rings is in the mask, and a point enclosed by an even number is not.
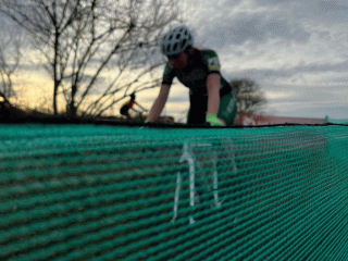
{"type": "Polygon", "coordinates": [[[261,113],[266,103],[260,86],[252,79],[234,79],[229,83],[237,98],[238,113],[261,113]]]}

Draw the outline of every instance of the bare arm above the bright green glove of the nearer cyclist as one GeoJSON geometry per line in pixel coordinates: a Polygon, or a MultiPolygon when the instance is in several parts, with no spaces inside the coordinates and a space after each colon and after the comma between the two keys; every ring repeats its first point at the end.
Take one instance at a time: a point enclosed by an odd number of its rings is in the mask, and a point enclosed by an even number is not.
{"type": "Polygon", "coordinates": [[[207,114],[217,115],[220,105],[220,74],[211,73],[207,76],[208,110],[207,114]]]}

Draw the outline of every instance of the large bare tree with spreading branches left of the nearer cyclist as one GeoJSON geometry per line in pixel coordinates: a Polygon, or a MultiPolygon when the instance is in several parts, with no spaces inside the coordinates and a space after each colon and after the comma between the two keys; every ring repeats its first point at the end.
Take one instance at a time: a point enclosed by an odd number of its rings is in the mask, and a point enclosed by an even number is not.
{"type": "Polygon", "coordinates": [[[54,114],[62,94],[70,115],[100,115],[130,91],[159,85],[148,75],[163,64],[157,41],[178,21],[177,2],[2,0],[0,11],[30,32],[40,50],[53,79],[54,114]]]}

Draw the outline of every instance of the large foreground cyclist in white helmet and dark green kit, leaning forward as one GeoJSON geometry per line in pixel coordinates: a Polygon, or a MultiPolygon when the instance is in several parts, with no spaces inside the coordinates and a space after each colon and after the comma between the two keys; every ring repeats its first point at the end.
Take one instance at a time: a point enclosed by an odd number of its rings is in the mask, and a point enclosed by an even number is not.
{"type": "Polygon", "coordinates": [[[160,92],[147,122],[160,116],[174,77],[189,88],[190,107],[187,124],[231,126],[237,112],[232,87],[221,76],[217,54],[213,50],[199,50],[186,26],[179,26],[164,35],[161,50],[167,57],[160,92]]]}

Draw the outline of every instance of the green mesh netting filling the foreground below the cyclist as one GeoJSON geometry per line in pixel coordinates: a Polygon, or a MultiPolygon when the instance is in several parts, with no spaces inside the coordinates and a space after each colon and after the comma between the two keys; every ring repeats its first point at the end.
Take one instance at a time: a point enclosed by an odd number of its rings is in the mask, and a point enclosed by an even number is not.
{"type": "Polygon", "coordinates": [[[347,260],[348,127],[0,126],[0,260],[347,260]]]}

